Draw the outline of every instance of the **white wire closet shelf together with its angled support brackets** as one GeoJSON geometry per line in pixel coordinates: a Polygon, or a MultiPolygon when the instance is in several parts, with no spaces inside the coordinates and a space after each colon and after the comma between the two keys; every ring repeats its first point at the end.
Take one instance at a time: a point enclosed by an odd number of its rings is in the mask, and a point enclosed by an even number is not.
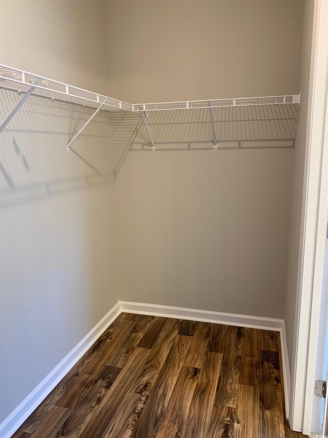
{"type": "Polygon", "coordinates": [[[233,98],[233,99],[207,99],[197,101],[180,101],[180,102],[157,102],[157,103],[142,103],[130,104],[124,101],[119,101],[103,94],[98,94],[83,88],[74,87],[72,85],[48,79],[37,74],[29,73],[24,70],[8,67],[0,64],[0,89],[18,92],[24,94],[19,103],[11,111],[10,115],[0,126],[0,134],[6,128],[8,123],[13,119],[20,108],[31,96],[37,98],[50,99],[52,101],[60,101],[75,105],[87,106],[95,109],[89,120],[79,129],[74,137],[67,144],[67,152],[71,151],[72,143],[78,138],[81,132],[92,121],[92,119],[101,110],[106,111],[130,111],[137,112],[141,115],[142,121],[146,127],[148,136],[151,142],[151,150],[155,152],[156,147],[153,141],[150,128],[147,123],[147,116],[153,111],[165,110],[191,110],[204,108],[208,110],[210,124],[213,136],[213,148],[218,149],[218,143],[213,120],[213,108],[229,108],[229,107],[256,107],[267,105],[278,105],[279,107],[288,105],[301,105],[301,93],[289,94],[288,96],[267,96],[267,97],[251,97],[251,98],[233,98]]]}

